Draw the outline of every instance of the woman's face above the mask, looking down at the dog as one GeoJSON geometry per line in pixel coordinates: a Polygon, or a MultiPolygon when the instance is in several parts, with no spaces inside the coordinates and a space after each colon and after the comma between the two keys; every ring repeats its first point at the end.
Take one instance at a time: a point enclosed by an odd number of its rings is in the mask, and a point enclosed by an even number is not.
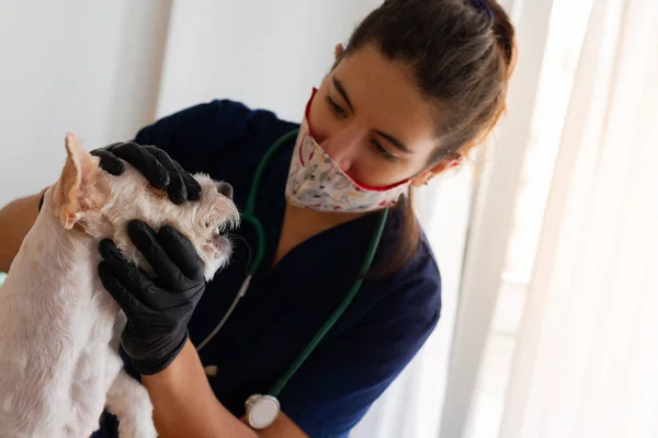
{"type": "Polygon", "coordinates": [[[427,169],[441,114],[420,94],[410,69],[375,47],[343,57],[325,77],[308,118],[316,141],[360,184],[420,184],[445,168],[427,169]]]}

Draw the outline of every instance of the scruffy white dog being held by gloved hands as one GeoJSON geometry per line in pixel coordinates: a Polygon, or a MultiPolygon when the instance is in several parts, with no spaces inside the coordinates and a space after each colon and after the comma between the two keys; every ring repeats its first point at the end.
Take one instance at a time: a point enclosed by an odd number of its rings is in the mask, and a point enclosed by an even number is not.
{"type": "Polygon", "coordinates": [[[230,253],[217,230],[236,226],[238,212],[206,175],[195,175],[202,199],[177,206],[127,163],[121,176],[100,171],[73,135],[66,149],[61,176],[0,287],[0,438],[88,438],[103,407],[120,418],[122,438],[156,437],[148,393],[117,353],[125,320],[98,277],[99,242],[113,239],[152,273],[126,224],[172,224],[209,280],[230,253]]]}

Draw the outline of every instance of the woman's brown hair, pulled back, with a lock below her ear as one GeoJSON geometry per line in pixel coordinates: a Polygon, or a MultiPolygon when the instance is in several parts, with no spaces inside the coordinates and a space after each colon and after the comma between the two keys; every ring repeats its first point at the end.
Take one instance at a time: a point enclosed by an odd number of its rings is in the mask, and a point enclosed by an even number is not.
{"type": "MultiPolygon", "coordinates": [[[[343,56],[368,44],[410,66],[422,94],[447,115],[436,126],[428,169],[468,152],[503,113],[517,45],[514,27],[495,0],[387,0],[354,30],[343,56]]],[[[386,273],[418,251],[412,196],[401,206],[402,239],[386,273]]]]}

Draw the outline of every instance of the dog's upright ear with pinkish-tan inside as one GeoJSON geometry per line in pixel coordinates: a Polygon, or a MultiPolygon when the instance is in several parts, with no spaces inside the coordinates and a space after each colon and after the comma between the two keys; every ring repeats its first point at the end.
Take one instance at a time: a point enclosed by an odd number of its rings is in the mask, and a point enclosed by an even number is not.
{"type": "Polygon", "coordinates": [[[97,181],[101,170],[99,159],[90,154],[73,134],[66,135],[65,146],[66,163],[57,197],[61,224],[70,230],[84,212],[100,207],[97,181]]]}

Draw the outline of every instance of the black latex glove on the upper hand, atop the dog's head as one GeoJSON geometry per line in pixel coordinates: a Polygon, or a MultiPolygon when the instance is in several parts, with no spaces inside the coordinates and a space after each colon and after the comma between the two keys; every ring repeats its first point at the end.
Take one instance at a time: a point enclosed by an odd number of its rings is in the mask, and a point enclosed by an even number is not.
{"type": "Polygon", "coordinates": [[[181,165],[162,149],[155,146],[141,146],[134,142],[112,143],[90,152],[100,158],[101,169],[115,176],[125,171],[123,159],[136,168],[157,188],[167,188],[174,204],[201,197],[201,185],[185,172],[181,165]]]}

